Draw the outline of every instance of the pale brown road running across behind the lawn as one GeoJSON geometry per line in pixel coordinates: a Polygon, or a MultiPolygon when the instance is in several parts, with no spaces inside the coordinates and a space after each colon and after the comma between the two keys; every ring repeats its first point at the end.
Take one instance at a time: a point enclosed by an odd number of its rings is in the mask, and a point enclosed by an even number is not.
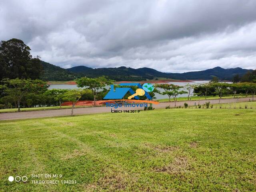
{"type": "MultiPolygon", "coordinates": [[[[222,99],[220,103],[231,103],[231,102],[248,102],[252,100],[252,98],[232,98],[232,99],[222,99]]],[[[176,102],[176,106],[184,106],[184,103],[188,103],[188,105],[198,105],[198,101],[179,101],[176,102]]],[[[205,102],[210,102],[210,104],[218,104],[219,100],[200,100],[200,104],[205,104],[205,102]]],[[[170,105],[170,107],[174,107],[174,102],[164,102],[160,104],[153,104],[153,107],[158,108],[165,108],[166,106],[170,105]]],[[[140,107],[134,108],[118,108],[120,109],[143,109],[140,107]]],[[[115,110],[113,108],[113,110],[115,110]]],[[[104,113],[110,112],[111,109],[107,108],[106,106],[102,107],[88,107],[88,108],[75,108],[74,115],[78,114],[93,114],[93,113],[104,113]]],[[[57,110],[38,110],[38,111],[26,111],[26,112],[9,112],[9,113],[0,113],[0,120],[13,120],[13,119],[29,119],[29,118],[40,118],[40,117],[53,117],[53,116],[67,116],[71,114],[71,109],[57,109],[57,110]]]]}

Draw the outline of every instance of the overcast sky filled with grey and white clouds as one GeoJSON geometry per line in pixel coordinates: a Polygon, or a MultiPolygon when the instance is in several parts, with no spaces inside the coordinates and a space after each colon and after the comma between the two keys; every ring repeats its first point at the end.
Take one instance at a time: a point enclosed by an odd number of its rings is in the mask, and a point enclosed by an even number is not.
{"type": "Polygon", "coordinates": [[[256,68],[256,0],[2,0],[0,40],[61,66],[256,68]]]}

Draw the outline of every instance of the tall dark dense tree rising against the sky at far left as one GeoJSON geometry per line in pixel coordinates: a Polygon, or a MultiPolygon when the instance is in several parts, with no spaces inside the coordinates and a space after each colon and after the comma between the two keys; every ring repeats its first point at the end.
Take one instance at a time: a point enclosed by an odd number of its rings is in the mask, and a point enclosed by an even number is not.
{"type": "Polygon", "coordinates": [[[43,67],[39,57],[32,58],[30,48],[22,40],[0,42],[0,79],[37,79],[43,67]]]}

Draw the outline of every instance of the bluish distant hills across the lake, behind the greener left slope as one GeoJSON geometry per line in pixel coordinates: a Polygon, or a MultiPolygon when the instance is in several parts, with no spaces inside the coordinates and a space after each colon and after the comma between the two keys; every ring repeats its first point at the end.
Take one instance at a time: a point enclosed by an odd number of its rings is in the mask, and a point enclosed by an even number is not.
{"type": "Polygon", "coordinates": [[[224,69],[221,67],[215,67],[212,69],[207,69],[203,71],[196,72],[186,72],[186,73],[164,73],[154,70],[152,68],[88,68],[86,66],[76,66],[67,69],[70,72],[76,72],[83,74],[84,76],[94,77],[94,76],[113,76],[115,80],[129,80],[131,78],[143,78],[143,79],[152,79],[154,77],[162,78],[172,78],[180,80],[211,80],[213,76],[218,77],[220,80],[232,80],[233,76],[238,74],[243,76],[246,74],[248,69],[242,68],[231,68],[224,69]]]}

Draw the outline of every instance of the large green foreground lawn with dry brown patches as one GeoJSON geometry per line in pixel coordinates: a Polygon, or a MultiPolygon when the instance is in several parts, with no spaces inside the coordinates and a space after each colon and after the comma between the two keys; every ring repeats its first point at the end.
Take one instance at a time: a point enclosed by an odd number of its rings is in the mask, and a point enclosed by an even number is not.
{"type": "Polygon", "coordinates": [[[255,117],[162,109],[0,121],[0,191],[256,191],[255,117]],[[32,184],[50,179],[31,174],[77,184],[32,184]]]}

